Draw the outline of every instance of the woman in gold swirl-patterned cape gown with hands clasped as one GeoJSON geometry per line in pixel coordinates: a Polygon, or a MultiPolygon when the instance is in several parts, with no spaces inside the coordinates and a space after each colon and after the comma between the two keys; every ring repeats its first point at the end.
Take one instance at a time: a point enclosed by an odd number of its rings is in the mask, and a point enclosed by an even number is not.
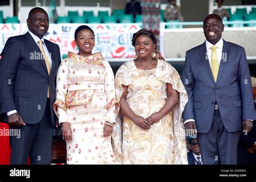
{"type": "Polygon", "coordinates": [[[181,115],[188,97],[180,76],[156,57],[157,39],[152,32],[134,33],[132,45],[137,58],[125,62],[115,79],[119,114],[123,114],[113,131],[114,136],[123,132],[114,148],[117,160],[123,164],[187,164],[181,115]]]}

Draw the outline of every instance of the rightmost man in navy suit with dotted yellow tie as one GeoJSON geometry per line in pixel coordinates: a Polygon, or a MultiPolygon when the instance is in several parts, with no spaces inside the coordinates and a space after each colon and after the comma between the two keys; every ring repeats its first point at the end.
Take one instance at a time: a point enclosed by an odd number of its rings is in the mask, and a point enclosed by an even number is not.
{"type": "Polygon", "coordinates": [[[185,129],[197,131],[204,164],[237,164],[241,131],[256,118],[245,50],[221,38],[220,16],[208,15],[203,29],[205,43],[186,52],[185,129]]]}

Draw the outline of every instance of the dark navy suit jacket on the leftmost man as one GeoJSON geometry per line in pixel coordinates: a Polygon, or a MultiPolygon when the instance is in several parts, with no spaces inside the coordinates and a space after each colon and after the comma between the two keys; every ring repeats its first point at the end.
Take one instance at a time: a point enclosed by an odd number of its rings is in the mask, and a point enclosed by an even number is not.
{"type": "Polygon", "coordinates": [[[29,32],[10,37],[6,41],[0,61],[0,114],[16,109],[25,123],[40,122],[44,115],[49,86],[51,118],[55,126],[56,116],[52,104],[56,96],[60,51],[57,44],[45,39],[44,43],[52,59],[50,76],[45,60],[35,56],[42,54],[39,54],[41,51],[29,32]]]}

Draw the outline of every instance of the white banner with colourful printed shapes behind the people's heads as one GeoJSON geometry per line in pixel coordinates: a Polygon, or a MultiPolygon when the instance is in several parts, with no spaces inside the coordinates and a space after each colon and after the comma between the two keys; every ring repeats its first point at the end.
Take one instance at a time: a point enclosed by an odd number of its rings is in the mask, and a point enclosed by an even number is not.
{"type": "MultiPolygon", "coordinates": [[[[83,24],[50,24],[45,39],[59,45],[60,54],[78,52],[75,46],[74,33],[83,24]]],[[[102,52],[104,58],[134,58],[132,34],[142,29],[142,23],[134,24],[87,24],[95,32],[93,53],[102,52]]],[[[9,37],[24,34],[28,31],[26,24],[0,24],[0,52],[9,37]]]]}

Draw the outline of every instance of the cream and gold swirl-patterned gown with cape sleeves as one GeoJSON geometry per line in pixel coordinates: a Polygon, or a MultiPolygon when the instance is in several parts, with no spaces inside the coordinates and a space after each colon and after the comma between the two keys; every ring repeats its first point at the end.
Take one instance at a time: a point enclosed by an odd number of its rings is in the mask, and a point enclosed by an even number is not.
{"type": "MultiPolygon", "coordinates": [[[[127,87],[126,101],[136,115],[144,118],[159,111],[167,100],[166,83],[179,92],[179,103],[172,112],[146,131],[129,118],[117,120],[113,134],[119,135],[114,151],[122,164],[187,164],[184,123],[181,119],[188,97],[179,74],[164,60],[155,69],[136,68],[134,61],[123,64],[116,74],[116,97],[120,100],[122,85],[127,87]],[[123,123],[122,123],[123,122],[123,123]],[[120,131],[122,129],[122,131],[120,131]]],[[[120,113],[119,113],[120,114],[120,113]]]]}

